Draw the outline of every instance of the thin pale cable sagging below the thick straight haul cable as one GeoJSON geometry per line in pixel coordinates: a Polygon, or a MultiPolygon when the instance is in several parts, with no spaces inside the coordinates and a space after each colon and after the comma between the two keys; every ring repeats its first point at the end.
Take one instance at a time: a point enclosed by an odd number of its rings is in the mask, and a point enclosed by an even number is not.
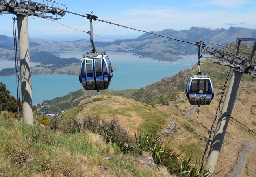
{"type": "MultiPolygon", "coordinates": [[[[47,19],[47,18],[46,18],[46,19],[47,19]]],[[[49,20],[49,21],[51,21],[51,22],[54,22],[54,23],[61,24],[61,25],[66,26],[66,27],[68,27],[68,28],[72,28],[72,29],[74,29],[74,30],[78,30],[78,31],[81,31],[81,32],[84,32],[84,33],[87,33],[87,34],[88,34],[88,32],[83,31],[83,30],[80,30],[80,29],[77,29],[77,28],[74,28],[74,27],[72,27],[72,26],[68,26],[68,25],[65,25],[65,24],[63,24],[63,23],[56,22],[56,21],[50,20],[50,19],[47,19],[47,20],[49,20]]],[[[144,56],[139,55],[139,54],[137,54],[137,53],[134,53],[134,52],[131,52],[131,51],[129,51],[129,50],[126,50],[125,48],[122,48],[121,46],[119,46],[119,45],[117,45],[117,44],[115,44],[115,43],[109,41],[109,40],[108,40],[109,38],[106,38],[106,37],[103,37],[103,36],[100,36],[100,35],[96,35],[96,34],[93,34],[93,35],[95,35],[95,36],[97,36],[97,37],[100,37],[100,38],[102,38],[102,39],[105,39],[106,41],[108,41],[108,42],[110,42],[111,44],[117,46],[118,48],[121,48],[122,50],[125,50],[126,52],[132,53],[132,54],[134,54],[134,55],[137,55],[137,56],[142,57],[142,58],[145,58],[145,59],[149,59],[149,60],[152,60],[152,61],[157,61],[157,62],[160,62],[160,63],[167,63],[167,64],[171,64],[171,65],[198,65],[198,63],[172,63],[172,62],[168,62],[168,61],[161,61],[161,60],[155,60],[155,59],[152,59],[152,58],[144,57],[144,56]]],[[[113,39],[111,39],[111,40],[113,40],[113,39]]],[[[211,62],[201,63],[201,64],[208,64],[208,63],[211,63],[211,62]]]]}

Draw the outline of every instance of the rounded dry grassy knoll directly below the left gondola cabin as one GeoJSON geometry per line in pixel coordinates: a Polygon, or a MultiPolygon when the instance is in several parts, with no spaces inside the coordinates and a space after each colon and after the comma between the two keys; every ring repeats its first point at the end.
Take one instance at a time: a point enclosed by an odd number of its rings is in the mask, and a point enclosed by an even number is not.
{"type": "Polygon", "coordinates": [[[150,105],[121,96],[98,95],[80,102],[61,116],[61,119],[83,118],[86,115],[100,116],[105,119],[117,118],[132,133],[137,127],[146,131],[160,131],[169,121],[166,114],[150,105]]]}

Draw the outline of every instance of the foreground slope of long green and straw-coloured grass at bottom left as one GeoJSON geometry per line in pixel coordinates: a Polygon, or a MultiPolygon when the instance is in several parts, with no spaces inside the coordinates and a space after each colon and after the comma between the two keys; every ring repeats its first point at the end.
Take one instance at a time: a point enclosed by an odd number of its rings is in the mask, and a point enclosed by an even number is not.
{"type": "Polygon", "coordinates": [[[103,151],[83,133],[30,127],[0,114],[0,135],[0,176],[163,176],[116,146],[113,154],[103,151]]]}

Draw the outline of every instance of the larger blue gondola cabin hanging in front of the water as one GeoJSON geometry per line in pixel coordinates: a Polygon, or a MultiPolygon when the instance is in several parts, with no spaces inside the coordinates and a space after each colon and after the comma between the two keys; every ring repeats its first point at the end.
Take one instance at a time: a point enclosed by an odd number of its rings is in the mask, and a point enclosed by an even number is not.
{"type": "Polygon", "coordinates": [[[85,90],[104,90],[113,77],[113,70],[107,55],[92,55],[82,59],[79,81],[85,90]]]}

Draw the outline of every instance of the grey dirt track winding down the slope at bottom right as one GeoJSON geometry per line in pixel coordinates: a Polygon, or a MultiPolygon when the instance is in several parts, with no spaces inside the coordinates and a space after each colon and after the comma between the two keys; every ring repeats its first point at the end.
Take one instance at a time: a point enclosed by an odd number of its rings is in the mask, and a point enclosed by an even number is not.
{"type": "Polygon", "coordinates": [[[254,142],[247,139],[245,139],[245,142],[247,143],[247,148],[245,149],[245,151],[243,151],[243,153],[239,157],[239,160],[237,162],[237,165],[235,166],[235,170],[232,177],[240,177],[243,171],[243,168],[245,166],[246,157],[247,155],[249,155],[250,151],[254,149],[254,142]]]}

